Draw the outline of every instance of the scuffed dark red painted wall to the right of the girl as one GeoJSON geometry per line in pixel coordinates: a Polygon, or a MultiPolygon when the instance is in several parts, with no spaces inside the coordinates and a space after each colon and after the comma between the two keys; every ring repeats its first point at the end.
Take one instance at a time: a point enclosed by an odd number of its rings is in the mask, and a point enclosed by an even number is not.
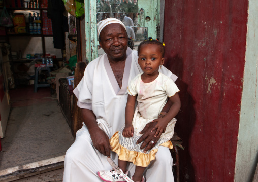
{"type": "Polygon", "coordinates": [[[166,64],[179,79],[180,181],[234,181],[247,0],[165,1],[166,64]]]}

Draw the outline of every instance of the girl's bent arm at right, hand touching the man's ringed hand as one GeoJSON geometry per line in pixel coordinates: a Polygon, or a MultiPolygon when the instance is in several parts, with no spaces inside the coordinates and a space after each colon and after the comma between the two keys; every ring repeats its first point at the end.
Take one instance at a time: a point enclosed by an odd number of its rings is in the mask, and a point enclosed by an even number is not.
{"type": "Polygon", "coordinates": [[[155,137],[160,137],[160,135],[162,135],[162,133],[165,132],[168,123],[177,115],[177,113],[180,110],[181,101],[178,93],[176,93],[172,97],[169,97],[169,99],[172,102],[172,105],[169,109],[169,112],[166,114],[166,116],[163,118],[158,118],[156,120],[153,120],[153,122],[157,122],[156,126],[151,130],[152,132],[157,129],[155,133],[155,137]]]}

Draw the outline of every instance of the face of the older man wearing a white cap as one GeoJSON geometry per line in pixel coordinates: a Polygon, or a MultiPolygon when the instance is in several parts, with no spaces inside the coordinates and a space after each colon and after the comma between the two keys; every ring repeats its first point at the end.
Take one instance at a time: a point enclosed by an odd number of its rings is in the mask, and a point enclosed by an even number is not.
{"type": "Polygon", "coordinates": [[[110,61],[126,59],[127,33],[119,23],[105,26],[100,33],[100,46],[110,61]]]}

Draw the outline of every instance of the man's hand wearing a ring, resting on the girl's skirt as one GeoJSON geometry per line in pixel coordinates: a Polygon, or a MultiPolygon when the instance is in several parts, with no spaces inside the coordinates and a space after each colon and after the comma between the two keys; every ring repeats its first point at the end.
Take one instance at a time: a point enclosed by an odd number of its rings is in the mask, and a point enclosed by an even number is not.
{"type": "Polygon", "coordinates": [[[153,130],[151,132],[151,129],[154,128],[156,126],[157,122],[150,122],[148,123],[144,128],[143,130],[140,132],[140,134],[143,134],[141,136],[141,138],[139,138],[137,140],[137,144],[142,143],[140,149],[144,149],[144,152],[146,153],[148,150],[152,149],[155,144],[157,143],[157,141],[159,140],[159,138],[155,137],[155,133],[156,133],[156,130],[153,130]],[[154,141],[154,142],[153,142],[154,141]]]}

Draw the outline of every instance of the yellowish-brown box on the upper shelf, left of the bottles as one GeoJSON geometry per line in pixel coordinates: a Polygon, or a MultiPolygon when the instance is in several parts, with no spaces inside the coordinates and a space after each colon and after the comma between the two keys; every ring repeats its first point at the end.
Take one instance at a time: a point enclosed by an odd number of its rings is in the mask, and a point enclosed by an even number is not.
{"type": "Polygon", "coordinates": [[[26,33],[26,22],[23,13],[15,13],[13,17],[13,26],[15,33],[26,33]]]}

